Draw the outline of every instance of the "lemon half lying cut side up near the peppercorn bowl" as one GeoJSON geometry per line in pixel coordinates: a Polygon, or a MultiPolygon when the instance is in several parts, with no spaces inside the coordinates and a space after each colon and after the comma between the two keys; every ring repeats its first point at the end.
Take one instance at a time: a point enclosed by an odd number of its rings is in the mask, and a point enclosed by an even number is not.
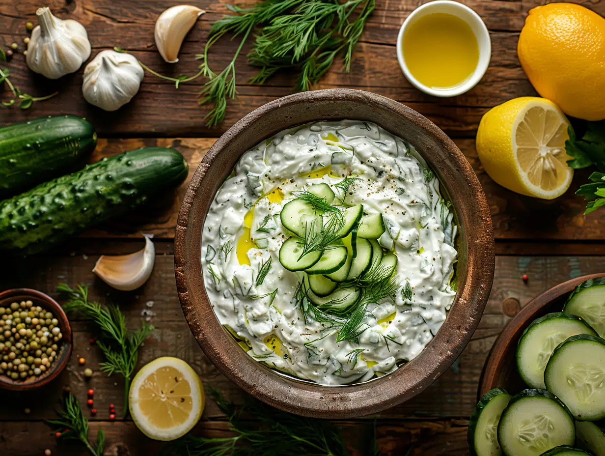
{"type": "Polygon", "coordinates": [[[204,389],[185,361],[162,357],[143,366],[132,380],[130,414],[137,428],[155,440],[174,440],[200,420],[204,389]]]}

